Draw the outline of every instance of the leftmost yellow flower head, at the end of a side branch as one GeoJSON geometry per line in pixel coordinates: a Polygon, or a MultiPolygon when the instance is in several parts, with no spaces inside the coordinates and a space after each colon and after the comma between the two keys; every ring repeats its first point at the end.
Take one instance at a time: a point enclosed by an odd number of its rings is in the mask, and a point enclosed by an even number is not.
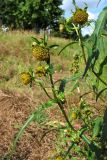
{"type": "Polygon", "coordinates": [[[25,85],[29,84],[32,80],[31,75],[28,72],[21,73],[20,78],[21,78],[22,83],[25,85]]]}

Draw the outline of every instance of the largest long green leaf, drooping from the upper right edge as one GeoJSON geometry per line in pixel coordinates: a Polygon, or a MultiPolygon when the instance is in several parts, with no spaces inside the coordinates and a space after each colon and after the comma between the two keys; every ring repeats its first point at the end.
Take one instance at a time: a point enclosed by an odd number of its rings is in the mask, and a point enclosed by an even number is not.
{"type": "Polygon", "coordinates": [[[97,61],[99,62],[99,57],[101,54],[103,54],[102,49],[103,49],[103,52],[106,54],[104,49],[104,43],[102,41],[102,35],[107,34],[106,22],[107,22],[107,7],[104,8],[103,11],[100,13],[95,25],[95,30],[90,38],[90,40],[92,41],[92,47],[90,46],[88,47],[88,60],[85,67],[84,74],[83,74],[83,77],[84,77],[87,71],[89,70],[89,68],[91,68],[94,75],[103,84],[106,84],[106,83],[100,77],[100,73],[102,73],[101,71],[103,70],[102,65],[104,66],[106,64],[106,58],[105,58],[105,61],[101,63],[99,73],[96,73],[96,71],[94,71],[94,66],[98,68],[98,65],[96,65],[96,62],[97,61]]]}

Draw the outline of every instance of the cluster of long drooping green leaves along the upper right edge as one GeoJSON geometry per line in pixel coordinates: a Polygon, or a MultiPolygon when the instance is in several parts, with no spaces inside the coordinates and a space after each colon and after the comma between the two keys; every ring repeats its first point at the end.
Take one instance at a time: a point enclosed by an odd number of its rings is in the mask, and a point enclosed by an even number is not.
{"type": "MultiPolygon", "coordinates": [[[[107,77],[105,77],[107,72],[107,56],[105,50],[105,42],[103,34],[107,34],[106,30],[107,23],[107,7],[103,9],[100,13],[98,20],[95,25],[95,30],[90,38],[90,46],[88,46],[88,60],[86,63],[86,68],[83,74],[83,77],[86,75],[87,71],[91,69],[94,74],[95,83],[93,84],[94,91],[96,92],[96,96],[98,99],[99,95],[101,95],[107,86],[107,77]],[[102,89],[103,88],[103,89],[102,89]]],[[[89,73],[89,74],[90,74],[89,73]]]]}

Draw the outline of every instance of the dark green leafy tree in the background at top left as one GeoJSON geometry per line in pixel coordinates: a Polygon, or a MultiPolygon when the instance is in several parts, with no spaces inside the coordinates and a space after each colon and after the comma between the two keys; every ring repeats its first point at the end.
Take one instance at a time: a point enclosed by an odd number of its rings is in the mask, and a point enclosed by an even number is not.
{"type": "Polygon", "coordinates": [[[63,14],[62,0],[0,0],[3,23],[13,28],[37,31],[47,26],[55,28],[63,14]]]}

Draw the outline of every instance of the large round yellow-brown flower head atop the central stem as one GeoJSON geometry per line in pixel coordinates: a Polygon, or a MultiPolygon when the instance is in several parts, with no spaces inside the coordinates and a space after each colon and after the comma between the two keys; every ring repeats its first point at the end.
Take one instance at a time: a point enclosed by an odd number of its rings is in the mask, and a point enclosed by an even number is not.
{"type": "Polygon", "coordinates": [[[32,54],[39,61],[49,61],[49,50],[39,45],[32,46],[32,54]]]}

